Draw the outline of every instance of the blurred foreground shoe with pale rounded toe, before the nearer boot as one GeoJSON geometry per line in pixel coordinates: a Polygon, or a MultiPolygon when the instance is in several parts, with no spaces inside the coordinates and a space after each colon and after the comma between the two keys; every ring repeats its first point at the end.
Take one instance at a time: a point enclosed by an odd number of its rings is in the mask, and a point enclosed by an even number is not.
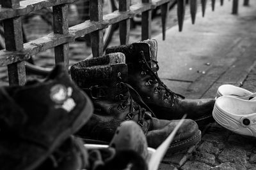
{"type": "Polygon", "coordinates": [[[133,121],[122,122],[116,129],[109,148],[90,150],[92,169],[147,170],[147,139],[133,121]]]}

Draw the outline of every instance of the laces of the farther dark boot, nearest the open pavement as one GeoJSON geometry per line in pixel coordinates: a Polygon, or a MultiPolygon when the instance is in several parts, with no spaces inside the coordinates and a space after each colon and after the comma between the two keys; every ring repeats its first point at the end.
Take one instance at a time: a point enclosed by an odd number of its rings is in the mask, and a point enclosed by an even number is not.
{"type": "Polygon", "coordinates": [[[154,83],[154,84],[158,83],[158,86],[154,90],[154,93],[161,92],[161,90],[165,90],[166,92],[164,93],[164,100],[167,100],[167,99],[171,98],[172,106],[174,105],[174,98],[175,97],[181,98],[181,99],[185,99],[185,97],[182,96],[181,94],[177,94],[177,93],[173,92],[172,90],[168,89],[168,87],[163,83],[163,81],[160,80],[160,78],[156,74],[156,72],[159,70],[159,66],[157,64],[157,61],[156,60],[152,60],[152,59],[147,61],[143,51],[141,51],[140,54],[141,54],[141,57],[142,57],[142,61],[141,62],[143,64],[143,66],[146,67],[146,68],[144,68],[142,66],[142,69],[143,69],[143,73],[142,74],[147,74],[147,72],[149,72],[150,75],[153,78],[153,80],[148,80],[145,83],[145,85],[148,86],[148,85],[151,85],[152,83],[154,83]],[[150,66],[152,63],[156,64],[156,67],[154,67],[153,69],[150,66]]]}

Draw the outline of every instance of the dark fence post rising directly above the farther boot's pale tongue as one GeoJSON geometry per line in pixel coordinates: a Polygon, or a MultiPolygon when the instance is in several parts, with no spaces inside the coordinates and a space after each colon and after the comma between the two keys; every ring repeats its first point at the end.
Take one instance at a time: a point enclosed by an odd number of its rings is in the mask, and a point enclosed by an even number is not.
{"type": "MultiPolygon", "coordinates": [[[[142,3],[151,3],[152,0],[142,0],[142,3]]],[[[141,40],[150,39],[151,38],[151,21],[152,21],[152,11],[144,11],[142,13],[142,21],[141,21],[141,40]]]]}

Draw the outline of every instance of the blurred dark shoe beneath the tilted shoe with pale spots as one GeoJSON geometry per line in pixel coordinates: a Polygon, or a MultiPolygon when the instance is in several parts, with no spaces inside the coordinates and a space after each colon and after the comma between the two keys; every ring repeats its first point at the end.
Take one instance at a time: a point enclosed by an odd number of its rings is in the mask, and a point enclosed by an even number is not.
{"type": "Polygon", "coordinates": [[[89,155],[83,141],[71,136],[35,170],[88,169],[89,155]]]}

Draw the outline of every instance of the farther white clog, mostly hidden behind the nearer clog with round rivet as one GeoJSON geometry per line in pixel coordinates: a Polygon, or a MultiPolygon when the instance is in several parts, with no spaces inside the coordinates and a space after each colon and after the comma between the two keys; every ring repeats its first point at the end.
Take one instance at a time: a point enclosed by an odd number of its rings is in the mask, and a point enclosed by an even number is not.
{"type": "Polygon", "coordinates": [[[256,100],[256,93],[234,85],[221,85],[218,88],[216,98],[220,96],[234,96],[244,100],[256,100]]]}

